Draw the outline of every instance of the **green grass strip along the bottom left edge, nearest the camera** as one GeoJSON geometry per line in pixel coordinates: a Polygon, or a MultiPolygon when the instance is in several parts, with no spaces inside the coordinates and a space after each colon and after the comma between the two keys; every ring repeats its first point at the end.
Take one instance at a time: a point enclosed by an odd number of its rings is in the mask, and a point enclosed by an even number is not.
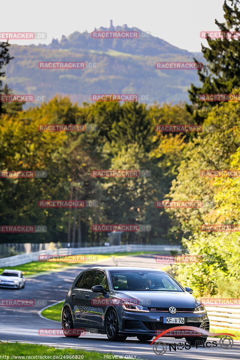
{"type": "MultiPolygon", "coordinates": [[[[53,346],[45,346],[45,345],[36,345],[36,344],[27,344],[27,343],[19,343],[19,342],[0,342],[0,354],[5,355],[5,359],[11,359],[11,355],[21,355],[21,356],[51,356],[47,359],[73,359],[73,357],[69,357],[69,355],[74,355],[74,359],[81,359],[84,360],[101,360],[103,359],[104,353],[96,352],[96,351],[86,351],[82,349],[56,349],[53,346]],[[53,355],[56,355],[53,357],[53,355]],[[61,357],[62,355],[62,357],[61,357]],[[77,357],[75,357],[77,355],[77,357]],[[82,356],[83,357],[82,357],[82,356]],[[8,356],[8,357],[7,357],[8,356]],[[65,356],[65,357],[64,357],[65,356]]],[[[109,353],[108,353],[109,355],[109,353]]],[[[28,358],[26,358],[27,360],[28,358]]],[[[39,358],[40,359],[40,358],[39,358]]],[[[22,360],[23,357],[22,357],[22,360]]]]}

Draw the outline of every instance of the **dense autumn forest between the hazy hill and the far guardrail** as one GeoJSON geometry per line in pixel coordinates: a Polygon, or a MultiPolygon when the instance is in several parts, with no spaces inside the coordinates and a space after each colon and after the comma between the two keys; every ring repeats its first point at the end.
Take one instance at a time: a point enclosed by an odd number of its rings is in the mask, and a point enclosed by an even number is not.
{"type": "Polygon", "coordinates": [[[159,122],[190,123],[183,104],[97,102],[78,107],[56,96],[41,107],[2,114],[2,170],[45,170],[45,179],[1,179],[1,224],[47,225],[47,233],[3,234],[2,242],[85,241],[100,244],[106,233],[92,224],[150,224],[151,233],[126,233],[123,241],[180,243],[172,220],[155,201],[169,192],[187,140],[161,134],[159,122]],[[94,123],[96,132],[41,132],[40,124],[94,123]],[[92,177],[96,169],[150,170],[150,177],[92,177]],[[40,208],[39,200],[98,200],[96,208],[40,208]]]}

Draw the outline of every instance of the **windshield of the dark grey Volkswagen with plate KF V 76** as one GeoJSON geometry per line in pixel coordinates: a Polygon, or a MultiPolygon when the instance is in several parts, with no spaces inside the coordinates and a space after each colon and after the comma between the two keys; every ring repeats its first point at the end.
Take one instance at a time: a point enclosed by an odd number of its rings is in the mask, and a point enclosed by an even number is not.
{"type": "Polygon", "coordinates": [[[168,274],[157,271],[110,271],[113,289],[117,291],[178,291],[182,288],[168,274]]]}

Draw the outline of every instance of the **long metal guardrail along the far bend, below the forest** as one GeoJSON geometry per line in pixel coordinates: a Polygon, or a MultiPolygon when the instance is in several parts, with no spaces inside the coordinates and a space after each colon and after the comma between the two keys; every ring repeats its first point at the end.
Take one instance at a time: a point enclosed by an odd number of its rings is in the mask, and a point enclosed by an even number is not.
{"type": "Polygon", "coordinates": [[[81,255],[81,254],[106,254],[114,252],[132,251],[181,251],[181,246],[177,245],[115,245],[115,246],[95,246],[83,248],[61,248],[53,250],[41,250],[20,254],[0,259],[0,267],[16,266],[27,264],[27,262],[38,261],[39,255],[81,255]]]}

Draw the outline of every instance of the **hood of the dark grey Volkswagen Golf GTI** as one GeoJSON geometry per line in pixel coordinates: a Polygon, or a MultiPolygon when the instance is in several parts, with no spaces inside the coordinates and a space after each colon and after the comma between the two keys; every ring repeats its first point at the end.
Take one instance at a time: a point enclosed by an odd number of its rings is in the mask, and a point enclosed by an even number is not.
{"type": "Polygon", "coordinates": [[[114,291],[114,297],[147,307],[195,307],[196,299],[188,292],[114,291]]]}

